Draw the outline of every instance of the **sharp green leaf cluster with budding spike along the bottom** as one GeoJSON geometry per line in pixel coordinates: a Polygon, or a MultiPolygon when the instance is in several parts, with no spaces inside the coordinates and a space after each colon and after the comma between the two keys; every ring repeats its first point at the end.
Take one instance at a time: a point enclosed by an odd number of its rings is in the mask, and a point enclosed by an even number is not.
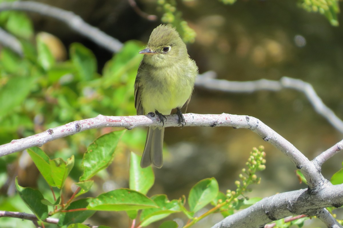
{"type": "MultiPolygon", "coordinates": [[[[78,178],[79,182],[74,183],[77,188],[68,200],[64,190],[66,180],[74,166],[74,156],[65,161],[62,158],[50,159],[37,147],[28,150],[31,159],[51,189],[53,200],[47,199],[44,192],[38,189],[20,186],[17,179],[15,187],[21,199],[39,221],[43,222],[47,217],[57,216],[59,227],[83,227],[81,223],[96,211],[125,211],[129,218],[137,222],[137,227],[145,227],[171,214],[181,213],[189,219],[185,225],[189,227],[210,214],[221,212],[223,216],[227,216],[234,213],[234,210],[245,208],[261,199],[249,200],[244,197],[244,191],[252,183],[259,183],[260,178],[255,173],[264,169],[261,168],[261,164],[265,164],[263,147],[260,147],[260,150],[254,148],[254,152],[251,152],[244,178],[240,178],[243,180],[243,185],[237,185],[236,192],[230,190],[226,194],[220,192],[218,182],[212,177],[196,183],[190,189],[187,198],[181,196],[179,199],[169,200],[164,194],[148,197],[146,194],[155,180],[152,167],[141,168],[141,157],[131,152],[129,188],[111,190],[96,197],[76,199],[91,191],[94,185],[92,177],[107,168],[113,161],[119,139],[124,132],[126,130],[110,132],[100,136],[88,146],[82,159],[83,173],[78,178]],[[241,196],[243,198],[239,199],[241,196]],[[209,204],[212,206],[203,211],[202,209],[209,204]]],[[[177,227],[177,224],[170,220],[162,223],[160,227],[177,227]]]]}

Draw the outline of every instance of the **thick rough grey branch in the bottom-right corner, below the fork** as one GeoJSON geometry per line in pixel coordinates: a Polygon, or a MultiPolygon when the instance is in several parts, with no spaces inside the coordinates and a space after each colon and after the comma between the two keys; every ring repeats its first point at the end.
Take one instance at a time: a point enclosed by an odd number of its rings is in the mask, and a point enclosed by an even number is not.
{"type": "MultiPolygon", "coordinates": [[[[320,208],[340,207],[342,205],[343,184],[331,185],[331,183],[327,183],[320,186],[316,191],[301,189],[263,198],[254,205],[224,218],[212,228],[260,228],[267,223],[287,216],[299,214],[318,216],[320,208]]],[[[319,213],[319,216],[322,214],[319,213]]],[[[326,214],[325,216],[330,217],[331,215],[326,214]]],[[[333,217],[329,217],[323,218],[322,216],[322,220],[325,220],[326,224],[337,225],[337,222],[333,223],[333,217]]]]}

